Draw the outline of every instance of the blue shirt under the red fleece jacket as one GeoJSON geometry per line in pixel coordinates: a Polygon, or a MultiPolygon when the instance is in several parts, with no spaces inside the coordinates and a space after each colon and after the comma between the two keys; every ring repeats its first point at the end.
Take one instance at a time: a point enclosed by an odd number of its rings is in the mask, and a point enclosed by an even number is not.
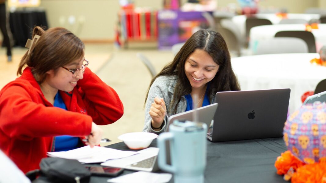
{"type": "MultiPolygon", "coordinates": [[[[67,106],[63,102],[59,92],[54,97],[53,106],[67,110],[67,106]]],[[[78,137],[73,137],[70,135],[61,135],[61,136],[56,136],[54,138],[55,138],[54,151],[67,151],[67,150],[75,149],[77,148],[79,142],[78,137]]]]}

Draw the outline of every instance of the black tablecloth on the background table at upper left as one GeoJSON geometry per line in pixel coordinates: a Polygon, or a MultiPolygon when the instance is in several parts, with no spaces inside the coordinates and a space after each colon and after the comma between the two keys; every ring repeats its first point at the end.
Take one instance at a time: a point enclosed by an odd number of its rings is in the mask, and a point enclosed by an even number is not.
{"type": "Polygon", "coordinates": [[[41,9],[21,9],[10,12],[9,23],[14,46],[20,47],[25,47],[27,39],[32,38],[35,26],[48,28],[45,11],[41,9]]]}

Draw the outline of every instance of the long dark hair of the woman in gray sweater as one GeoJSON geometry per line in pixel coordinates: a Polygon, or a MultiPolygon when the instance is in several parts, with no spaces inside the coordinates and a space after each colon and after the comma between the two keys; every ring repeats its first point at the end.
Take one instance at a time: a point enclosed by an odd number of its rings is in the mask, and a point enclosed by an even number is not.
{"type": "MultiPolygon", "coordinates": [[[[195,49],[206,51],[213,58],[214,62],[219,65],[219,70],[215,77],[209,81],[208,93],[215,95],[218,91],[240,90],[240,85],[231,67],[230,53],[222,35],[213,30],[199,30],[185,42],[173,61],[164,66],[161,72],[152,79],[147,90],[145,103],[149,89],[157,77],[177,75],[178,79],[174,87],[173,99],[170,103],[170,106],[175,106],[173,110],[176,113],[176,106],[178,106],[181,97],[191,92],[190,82],[185,75],[185,62],[195,49]]],[[[211,95],[208,96],[211,101],[211,95]]],[[[170,108],[169,111],[171,110],[170,108]]]]}

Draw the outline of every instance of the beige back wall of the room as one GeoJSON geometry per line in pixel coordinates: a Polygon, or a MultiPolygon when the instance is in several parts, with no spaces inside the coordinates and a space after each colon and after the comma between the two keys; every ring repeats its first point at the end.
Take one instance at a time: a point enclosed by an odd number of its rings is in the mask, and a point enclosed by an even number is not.
{"type": "MultiPolygon", "coordinates": [[[[136,7],[162,9],[163,0],[134,0],[136,7]]],[[[185,3],[186,0],[181,0],[185,3]]],[[[218,7],[237,0],[217,0],[218,7]]],[[[289,13],[304,13],[307,7],[326,8],[326,0],[261,0],[260,7],[286,7],[289,13]]],[[[120,9],[118,0],[41,0],[50,27],[63,26],[83,40],[114,40],[114,26],[120,9]],[[72,21],[68,21],[71,17],[72,21]],[[73,21],[74,20],[74,21],[73,21]]],[[[2,39],[2,35],[0,35],[2,39]]]]}

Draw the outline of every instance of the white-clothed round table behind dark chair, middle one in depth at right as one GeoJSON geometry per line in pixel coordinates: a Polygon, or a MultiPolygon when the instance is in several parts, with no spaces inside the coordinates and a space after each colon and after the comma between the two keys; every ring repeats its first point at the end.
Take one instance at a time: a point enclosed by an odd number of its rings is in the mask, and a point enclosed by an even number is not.
{"type": "MultiPolygon", "coordinates": [[[[261,25],[250,29],[249,49],[255,53],[259,46],[259,41],[273,39],[279,31],[304,31],[304,24],[277,24],[277,25],[261,25]]],[[[318,29],[312,29],[312,34],[315,36],[316,49],[326,45],[326,24],[318,24],[318,29]]]]}

